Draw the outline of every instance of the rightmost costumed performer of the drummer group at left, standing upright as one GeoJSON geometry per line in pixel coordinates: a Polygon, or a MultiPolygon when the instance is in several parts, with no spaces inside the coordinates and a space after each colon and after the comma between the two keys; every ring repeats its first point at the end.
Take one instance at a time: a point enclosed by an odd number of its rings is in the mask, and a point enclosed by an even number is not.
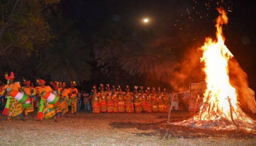
{"type": "Polygon", "coordinates": [[[71,103],[70,103],[70,106],[71,106],[71,113],[76,113],[76,110],[77,110],[77,94],[78,94],[78,90],[75,88],[75,85],[76,85],[76,82],[73,81],[71,82],[71,88],[69,88],[69,91],[71,93],[70,95],[70,99],[71,100],[71,103]]]}

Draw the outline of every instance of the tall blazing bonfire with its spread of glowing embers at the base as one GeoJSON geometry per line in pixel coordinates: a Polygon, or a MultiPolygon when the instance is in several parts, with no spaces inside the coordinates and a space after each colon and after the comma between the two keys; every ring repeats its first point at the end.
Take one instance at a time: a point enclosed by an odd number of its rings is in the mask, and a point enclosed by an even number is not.
{"type": "Polygon", "coordinates": [[[227,49],[222,32],[222,25],[227,24],[228,18],[224,9],[216,19],[216,37],[206,38],[201,62],[206,74],[207,89],[204,92],[203,104],[200,111],[193,117],[174,125],[192,126],[211,129],[256,129],[256,121],[247,116],[239,107],[236,89],[229,82],[228,61],[233,54],[227,49]]]}

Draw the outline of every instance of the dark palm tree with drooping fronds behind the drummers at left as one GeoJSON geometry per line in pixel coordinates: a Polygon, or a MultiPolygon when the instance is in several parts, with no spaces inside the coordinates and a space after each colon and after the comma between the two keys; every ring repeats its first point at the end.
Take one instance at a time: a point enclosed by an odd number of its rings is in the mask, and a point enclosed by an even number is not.
{"type": "Polygon", "coordinates": [[[56,47],[42,57],[37,66],[43,75],[62,82],[76,81],[79,85],[91,75],[90,50],[75,36],[60,38],[56,47]]]}

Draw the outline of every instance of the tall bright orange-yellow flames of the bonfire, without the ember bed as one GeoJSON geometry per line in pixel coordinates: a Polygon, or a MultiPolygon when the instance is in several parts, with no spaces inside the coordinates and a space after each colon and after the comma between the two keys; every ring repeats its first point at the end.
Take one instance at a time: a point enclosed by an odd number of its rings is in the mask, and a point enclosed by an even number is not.
{"type": "MultiPolygon", "coordinates": [[[[225,10],[221,8],[217,10],[220,13],[215,25],[217,41],[207,37],[204,46],[199,48],[203,50],[201,62],[204,62],[203,70],[206,73],[207,83],[203,105],[207,110],[200,111],[202,114],[200,120],[215,120],[223,117],[231,121],[228,99],[230,99],[234,113],[242,111],[238,108],[236,89],[229,82],[228,61],[233,54],[224,44],[225,37],[222,31],[222,25],[227,24],[228,18],[225,10]]],[[[233,117],[234,119],[240,118],[236,114],[233,117]]]]}

